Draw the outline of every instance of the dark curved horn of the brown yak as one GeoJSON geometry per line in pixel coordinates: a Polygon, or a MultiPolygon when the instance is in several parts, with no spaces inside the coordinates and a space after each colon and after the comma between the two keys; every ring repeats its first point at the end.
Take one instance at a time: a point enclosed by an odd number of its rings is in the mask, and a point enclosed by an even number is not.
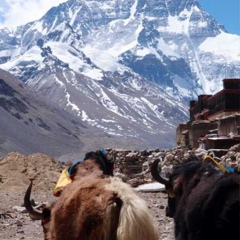
{"type": "Polygon", "coordinates": [[[42,212],[33,208],[32,204],[31,204],[31,201],[30,201],[30,196],[31,196],[31,191],[32,191],[32,180],[30,180],[30,185],[25,193],[25,196],[24,196],[24,206],[29,214],[29,217],[32,219],[32,220],[41,220],[43,217],[42,217],[42,212]]]}

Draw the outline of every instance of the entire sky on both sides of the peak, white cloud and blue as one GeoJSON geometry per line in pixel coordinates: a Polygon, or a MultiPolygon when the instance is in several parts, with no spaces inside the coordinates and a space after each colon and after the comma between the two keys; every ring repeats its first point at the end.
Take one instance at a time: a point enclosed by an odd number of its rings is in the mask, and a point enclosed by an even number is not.
{"type": "MultiPolygon", "coordinates": [[[[66,1],[67,0],[0,0],[0,28],[4,26],[14,27],[37,20],[52,6],[66,1]]],[[[240,35],[240,0],[198,1],[202,8],[218,22],[223,24],[229,33],[240,35]]]]}

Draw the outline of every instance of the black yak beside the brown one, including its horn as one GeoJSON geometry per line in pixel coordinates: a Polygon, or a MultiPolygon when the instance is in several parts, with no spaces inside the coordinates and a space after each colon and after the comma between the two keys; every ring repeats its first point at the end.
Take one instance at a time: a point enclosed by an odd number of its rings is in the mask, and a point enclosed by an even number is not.
{"type": "Polygon", "coordinates": [[[165,185],[166,216],[174,219],[177,240],[240,239],[240,177],[223,172],[212,161],[190,157],[161,176],[159,160],[152,177],[165,185]]]}

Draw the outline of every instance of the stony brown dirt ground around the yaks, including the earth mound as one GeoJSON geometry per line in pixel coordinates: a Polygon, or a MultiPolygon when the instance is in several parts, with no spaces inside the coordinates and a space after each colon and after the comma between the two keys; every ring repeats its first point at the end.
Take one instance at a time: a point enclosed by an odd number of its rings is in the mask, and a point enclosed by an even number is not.
{"type": "MultiPolygon", "coordinates": [[[[42,154],[24,156],[10,153],[0,159],[0,213],[10,214],[0,219],[1,240],[43,240],[40,221],[32,221],[25,212],[24,193],[29,179],[34,178],[32,198],[36,203],[54,201],[56,198],[52,196],[52,190],[61,170],[60,164],[42,154]]],[[[166,195],[161,192],[138,194],[149,205],[161,234],[160,239],[173,240],[174,224],[165,216],[166,195]]]]}

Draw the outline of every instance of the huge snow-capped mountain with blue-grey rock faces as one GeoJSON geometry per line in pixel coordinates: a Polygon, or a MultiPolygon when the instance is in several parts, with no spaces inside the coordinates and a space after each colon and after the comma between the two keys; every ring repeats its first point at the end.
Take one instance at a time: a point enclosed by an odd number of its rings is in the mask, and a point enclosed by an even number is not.
{"type": "Polygon", "coordinates": [[[69,0],[0,30],[0,68],[109,136],[169,147],[188,101],[239,76],[239,39],[197,0],[69,0]]]}

